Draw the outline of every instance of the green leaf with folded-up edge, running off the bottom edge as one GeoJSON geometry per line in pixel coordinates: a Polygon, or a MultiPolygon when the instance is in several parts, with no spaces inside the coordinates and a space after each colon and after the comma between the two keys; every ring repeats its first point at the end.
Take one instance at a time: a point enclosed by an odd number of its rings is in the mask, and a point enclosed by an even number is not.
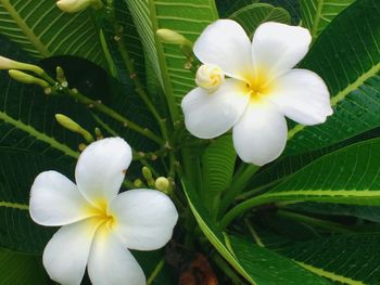
{"type": "Polygon", "coordinates": [[[329,284],[322,278],[309,274],[292,261],[253,244],[231,238],[221,233],[212,222],[210,216],[201,204],[200,197],[188,182],[183,183],[190,208],[204,235],[216,250],[251,284],[267,285],[268,281],[281,281],[281,284],[329,284]],[[232,246],[232,251],[228,244],[232,246]],[[279,272],[291,272],[291,275],[279,275],[279,272]]]}

